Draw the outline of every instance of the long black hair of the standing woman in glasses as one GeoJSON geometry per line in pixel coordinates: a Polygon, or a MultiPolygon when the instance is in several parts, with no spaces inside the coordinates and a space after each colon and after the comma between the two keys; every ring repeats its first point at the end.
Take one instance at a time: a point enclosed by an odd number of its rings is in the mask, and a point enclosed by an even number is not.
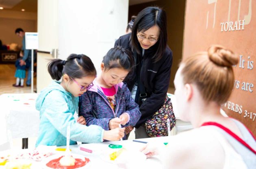
{"type": "Polygon", "coordinates": [[[155,61],[159,61],[162,58],[165,48],[167,46],[167,22],[166,13],[163,9],[156,6],[150,6],[138,13],[132,27],[131,43],[132,50],[136,50],[137,53],[139,53],[141,46],[138,43],[137,33],[145,32],[146,30],[155,25],[159,27],[160,34],[158,37],[158,41],[156,42],[156,44],[154,44],[157,49],[153,58],[155,59],[155,61]]]}

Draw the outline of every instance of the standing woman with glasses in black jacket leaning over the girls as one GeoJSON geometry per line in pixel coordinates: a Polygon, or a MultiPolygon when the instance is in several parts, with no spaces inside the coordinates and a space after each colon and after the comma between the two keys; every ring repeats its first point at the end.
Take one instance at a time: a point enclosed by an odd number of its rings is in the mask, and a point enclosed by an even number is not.
{"type": "MultiPolygon", "coordinates": [[[[141,118],[135,125],[135,138],[147,138],[144,123],[164,103],[169,87],[172,52],[167,45],[166,13],[158,7],[147,7],[137,15],[132,32],[117,39],[119,45],[130,50],[136,68],[124,82],[139,104],[141,118]]],[[[133,126],[126,128],[130,132],[133,126]]]]}

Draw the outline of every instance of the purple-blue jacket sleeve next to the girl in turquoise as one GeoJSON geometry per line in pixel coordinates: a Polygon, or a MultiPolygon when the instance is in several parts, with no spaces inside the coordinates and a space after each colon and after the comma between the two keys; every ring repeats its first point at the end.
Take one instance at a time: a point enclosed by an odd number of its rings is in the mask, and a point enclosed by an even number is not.
{"type": "Polygon", "coordinates": [[[91,98],[92,93],[90,92],[85,92],[79,97],[79,115],[85,117],[87,126],[94,124],[102,127],[104,130],[109,130],[109,121],[111,118],[96,118],[95,116],[97,115],[95,115],[95,113],[97,114],[97,112],[93,112],[93,103],[91,98]]]}

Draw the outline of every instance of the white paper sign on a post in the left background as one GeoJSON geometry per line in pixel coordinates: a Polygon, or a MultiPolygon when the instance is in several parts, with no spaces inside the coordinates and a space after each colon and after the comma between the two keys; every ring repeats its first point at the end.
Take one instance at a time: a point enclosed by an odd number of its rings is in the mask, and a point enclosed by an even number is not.
{"type": "Polygon", "coordinates": [[[38,49],[39,40],[37,32],[25,32],[26,49],[38,49]]]}

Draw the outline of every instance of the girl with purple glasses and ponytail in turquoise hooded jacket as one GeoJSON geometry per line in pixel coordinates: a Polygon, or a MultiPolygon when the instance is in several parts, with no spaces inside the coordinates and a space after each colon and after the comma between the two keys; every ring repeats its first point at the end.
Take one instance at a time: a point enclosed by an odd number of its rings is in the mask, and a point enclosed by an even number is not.
{"type": "Polygon", "coordinates": [[[40,111],[36,147],[66,145],[67,126],[70,126],[71,145],[76,141],[99,143],[104,139],[117,141],[124,137],[124,128],[107,131],[96,125],[86,126],[82,116],[76,120],[78,96],[93,86],[96,77],[95,67],[88,56],[71,54],[67,61],[53,59],[48,63],[48,72],[54,81],[36,100],[36,109],[40,111]]]}

